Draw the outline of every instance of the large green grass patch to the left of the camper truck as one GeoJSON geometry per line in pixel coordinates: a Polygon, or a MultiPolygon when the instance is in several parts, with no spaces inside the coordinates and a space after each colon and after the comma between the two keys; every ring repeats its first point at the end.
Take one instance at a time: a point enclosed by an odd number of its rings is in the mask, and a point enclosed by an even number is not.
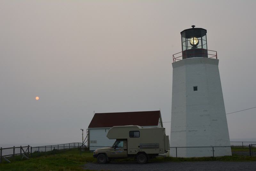
{"type": "Polygon", "coordinates": [[[35,152],[32,158],[11,160],[12,163],[3,162],[0,170],[19,171],[72,171],[83,170],[82,165],[86,162],[95,162],[91,152],[81,152],[78,149],[60,150],[56,152],[35,152]]]}

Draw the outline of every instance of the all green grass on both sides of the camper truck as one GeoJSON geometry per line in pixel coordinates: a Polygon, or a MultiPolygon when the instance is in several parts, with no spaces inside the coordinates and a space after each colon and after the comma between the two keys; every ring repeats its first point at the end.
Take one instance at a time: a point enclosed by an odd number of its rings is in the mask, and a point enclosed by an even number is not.
{"type": "MultiPolygon", "coordinates": [[[[232,151],[247,151],[248,149],[233,149],[232,151]]],[[[12,163],[3,161],[0,170],[10,171],[73,171],[83,170],[86,162],[96,162],[91,152],[81,152],[80,149],[60,150],[52,152],[34,152],[30,159],[20,159],[16,156],[12,163]]],[[[134,158],[115,159],[117,162],[136,161],[134,158]]],[[[149,162],[183,162],[183,161],[256,161],[256,156],[223,156],[223,157],[200,157],[200,158],[176,158],[157,157],[149,162]]],[[[89,171],[89,170],[87,170],[89,171]]]]}

